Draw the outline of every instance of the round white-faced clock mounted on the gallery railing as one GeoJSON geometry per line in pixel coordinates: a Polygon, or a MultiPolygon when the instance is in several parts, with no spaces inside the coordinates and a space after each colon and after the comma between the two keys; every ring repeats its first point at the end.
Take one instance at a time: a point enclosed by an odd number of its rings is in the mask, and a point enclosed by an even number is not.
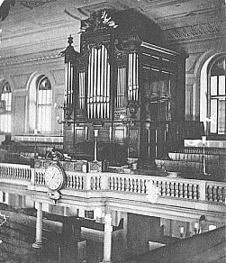
{"type": "Polygon", "coordinates": [[[46,186],[52,191],[61,189],[65,184],[65,172],[57,164],[51,164],[45,172],[46,186]]]}

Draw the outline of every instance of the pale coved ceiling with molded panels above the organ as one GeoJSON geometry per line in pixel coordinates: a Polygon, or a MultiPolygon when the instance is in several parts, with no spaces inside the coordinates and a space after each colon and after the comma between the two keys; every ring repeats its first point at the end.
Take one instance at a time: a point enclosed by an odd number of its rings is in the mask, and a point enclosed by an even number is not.
{"type": "Polygon", "coordinates": [[[108,8],[135,8],[158,23],[172,44],[197,38],[225,38],[225,6],[225,0],[15,0],[2,23],[1,56],[13,56],[15,49],[25,43],[19,52],[24,53],[31,43],[38,45],[37,39],[43,50],[50,39],[55,43],[51,41],[51,46],[60,46],[70,33],[79,32],[80,20],[108,8]]]}

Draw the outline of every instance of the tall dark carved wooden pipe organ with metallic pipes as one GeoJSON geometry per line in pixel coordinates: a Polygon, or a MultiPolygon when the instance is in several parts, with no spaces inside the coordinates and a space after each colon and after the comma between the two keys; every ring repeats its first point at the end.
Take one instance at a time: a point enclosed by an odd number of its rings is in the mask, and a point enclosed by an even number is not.
{"type": "Polygon", "coordinates": [[[185,56],[163,48],[161,35],[132,9],[81,22],[80,53],[71,37],[64,51],[67,152],[92,159],[97,136],[97,159],[112,164],[150,166],[166,154],[170,123],[184,120],[185,56]]]}

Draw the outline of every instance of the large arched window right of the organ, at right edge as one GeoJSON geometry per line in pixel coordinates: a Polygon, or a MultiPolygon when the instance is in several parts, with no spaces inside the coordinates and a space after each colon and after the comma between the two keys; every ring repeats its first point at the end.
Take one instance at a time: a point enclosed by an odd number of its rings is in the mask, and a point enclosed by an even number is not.
{"type": "Polygon", "coordinates": [[[209,90],[207,117],[210,134],[226,134],[226,57],[215,60],[208,68],[209,90]]]}

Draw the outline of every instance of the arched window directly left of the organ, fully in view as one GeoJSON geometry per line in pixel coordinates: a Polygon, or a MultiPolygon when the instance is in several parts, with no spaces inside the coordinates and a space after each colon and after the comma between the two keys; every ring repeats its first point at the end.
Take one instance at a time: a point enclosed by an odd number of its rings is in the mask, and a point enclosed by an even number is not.
{"type": "Polygon", "coordinates": [[[50,80],[46,76],[37,78],[37,130],[50,132],[52,91],[50,80]]]}

